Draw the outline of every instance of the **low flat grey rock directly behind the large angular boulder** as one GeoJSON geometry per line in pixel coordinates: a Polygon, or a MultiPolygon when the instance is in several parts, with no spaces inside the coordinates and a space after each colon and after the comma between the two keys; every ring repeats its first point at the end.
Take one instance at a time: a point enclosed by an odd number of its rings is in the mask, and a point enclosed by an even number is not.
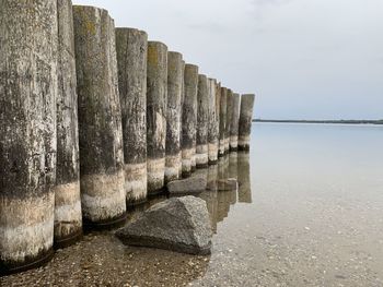
{"type": "Polygon", "coordinates": [[[187,179],[174,180],[167,183],[170,194],[198,193],[207,189],[206,177],[192,177],[187,179]]]}

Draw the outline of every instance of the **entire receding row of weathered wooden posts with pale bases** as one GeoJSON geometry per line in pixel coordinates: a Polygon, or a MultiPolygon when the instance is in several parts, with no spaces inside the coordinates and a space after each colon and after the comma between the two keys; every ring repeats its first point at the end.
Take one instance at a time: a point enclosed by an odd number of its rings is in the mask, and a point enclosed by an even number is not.
{"type": "Polygon", "coordinates": [[[0,2],[0,271],[248,150],[254,95],[70,0],[0,2]],[[240,108],[241,101],[241,108],[240,108]]]}

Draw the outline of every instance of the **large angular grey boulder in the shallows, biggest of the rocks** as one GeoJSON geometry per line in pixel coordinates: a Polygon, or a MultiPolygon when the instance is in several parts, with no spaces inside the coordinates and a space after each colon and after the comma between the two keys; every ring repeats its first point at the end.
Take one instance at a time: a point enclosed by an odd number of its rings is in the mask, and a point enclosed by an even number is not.
{"type": "Polygon", "coordinates": [[[211,253],[211,225],[206,202],[195,196],[158,203],[116,236],[129,246],[160,248],[189,254],[211,253]]]}

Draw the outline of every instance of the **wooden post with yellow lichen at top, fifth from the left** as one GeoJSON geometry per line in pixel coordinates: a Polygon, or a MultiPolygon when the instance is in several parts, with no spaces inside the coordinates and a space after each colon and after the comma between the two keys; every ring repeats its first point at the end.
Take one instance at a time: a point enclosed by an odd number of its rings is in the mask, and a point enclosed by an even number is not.
{"type": "Polygon", "coordinates": [[[148,43],[147,75],[148,193],[161,193],[165,178],[167,47],[148,43]]]}

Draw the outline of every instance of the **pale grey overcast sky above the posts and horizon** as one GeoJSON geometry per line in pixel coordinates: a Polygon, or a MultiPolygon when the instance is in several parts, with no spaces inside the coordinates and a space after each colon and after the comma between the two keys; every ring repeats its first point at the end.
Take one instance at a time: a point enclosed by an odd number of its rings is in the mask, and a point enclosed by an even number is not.
{"type": "Polygon", "coordinates": [[[257,118],[383,119],[383,0],[73,0],[200,73],[256,93],[257,118]]]}

